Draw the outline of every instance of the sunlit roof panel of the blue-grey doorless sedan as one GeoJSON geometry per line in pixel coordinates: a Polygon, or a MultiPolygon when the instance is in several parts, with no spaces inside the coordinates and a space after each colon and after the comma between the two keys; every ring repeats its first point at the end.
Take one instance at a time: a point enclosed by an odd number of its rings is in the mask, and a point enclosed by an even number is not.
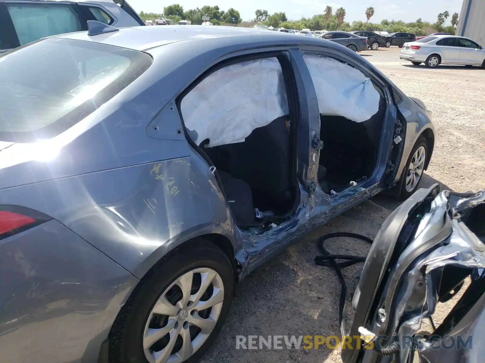
{"type": "MultiPolygon", "coordinates": [[[[211,39],[205,44],[206,50],[219,48],[217,39],[221,40],[230,37],[234,45],[247,44],[253,37],[254,41],[268,41],[288,43],[288,36],[280,31],[266,31],[242,27],[202,25],[170,25],[168,27],[127,27],[119,31],[88,36],[87,31],[53,35],[50,38],[75,39],[88,42],[102,43],[107,45],[120,46],[135,50],[147,50],[161,45],[177,42],[190,42],[211,39]],[[214,41],[215,40],[215,41],[214,41]]],[[[300,38],[297,38],[300,39],[300,38]]],[[[300,39],[302,41],[302,39],[300,39]]],[[[306,40],[310,42],[311,40],[306,40]]],[[[316,41],[318,42],[318,41],[316,41]]]]}

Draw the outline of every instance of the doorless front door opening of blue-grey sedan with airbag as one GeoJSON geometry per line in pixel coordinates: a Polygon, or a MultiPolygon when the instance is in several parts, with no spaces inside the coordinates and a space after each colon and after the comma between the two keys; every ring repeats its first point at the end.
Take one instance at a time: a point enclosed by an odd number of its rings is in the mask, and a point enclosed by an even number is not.
{"type": "Polygon", "coordinates": [[[321,55],[304,55],[320,111],[318,181],[334,194],[370,178],[386,114],[382,91],[347,63],[321,55]]]}

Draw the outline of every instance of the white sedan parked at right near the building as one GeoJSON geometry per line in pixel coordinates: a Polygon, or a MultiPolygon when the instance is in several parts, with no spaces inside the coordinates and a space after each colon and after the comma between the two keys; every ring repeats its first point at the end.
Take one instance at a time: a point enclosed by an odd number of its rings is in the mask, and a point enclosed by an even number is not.
{"type": "Polygon", "coordinates": [[[485,68],[483,47],[469,38],[455,35],[431,35],[404,43],[399,58],[414,65],[424,63],[430,68],[438,64],[481,65],[485,68]]]}

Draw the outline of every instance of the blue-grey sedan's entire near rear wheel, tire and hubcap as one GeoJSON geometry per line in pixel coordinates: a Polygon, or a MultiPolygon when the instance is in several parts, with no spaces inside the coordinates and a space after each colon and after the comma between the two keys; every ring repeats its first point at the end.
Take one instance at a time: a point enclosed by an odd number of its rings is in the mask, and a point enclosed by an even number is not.
{"type": "Polygon", "coordinates": [[[233,290],[232,265],[209,241],[170,253],[143,277],[118,314],[110,362],[197,362],[224,324],[233,290]]]}

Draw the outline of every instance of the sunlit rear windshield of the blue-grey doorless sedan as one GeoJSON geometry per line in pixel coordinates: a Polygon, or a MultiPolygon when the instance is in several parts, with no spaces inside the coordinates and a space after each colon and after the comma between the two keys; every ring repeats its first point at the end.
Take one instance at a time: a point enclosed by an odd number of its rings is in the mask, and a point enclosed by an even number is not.
{"type": "Polygon", "coordinates": [[[140,76],[151,57],[135,50],[48,38],[0,57],[0,141],[56,136],[140,76]]]}

